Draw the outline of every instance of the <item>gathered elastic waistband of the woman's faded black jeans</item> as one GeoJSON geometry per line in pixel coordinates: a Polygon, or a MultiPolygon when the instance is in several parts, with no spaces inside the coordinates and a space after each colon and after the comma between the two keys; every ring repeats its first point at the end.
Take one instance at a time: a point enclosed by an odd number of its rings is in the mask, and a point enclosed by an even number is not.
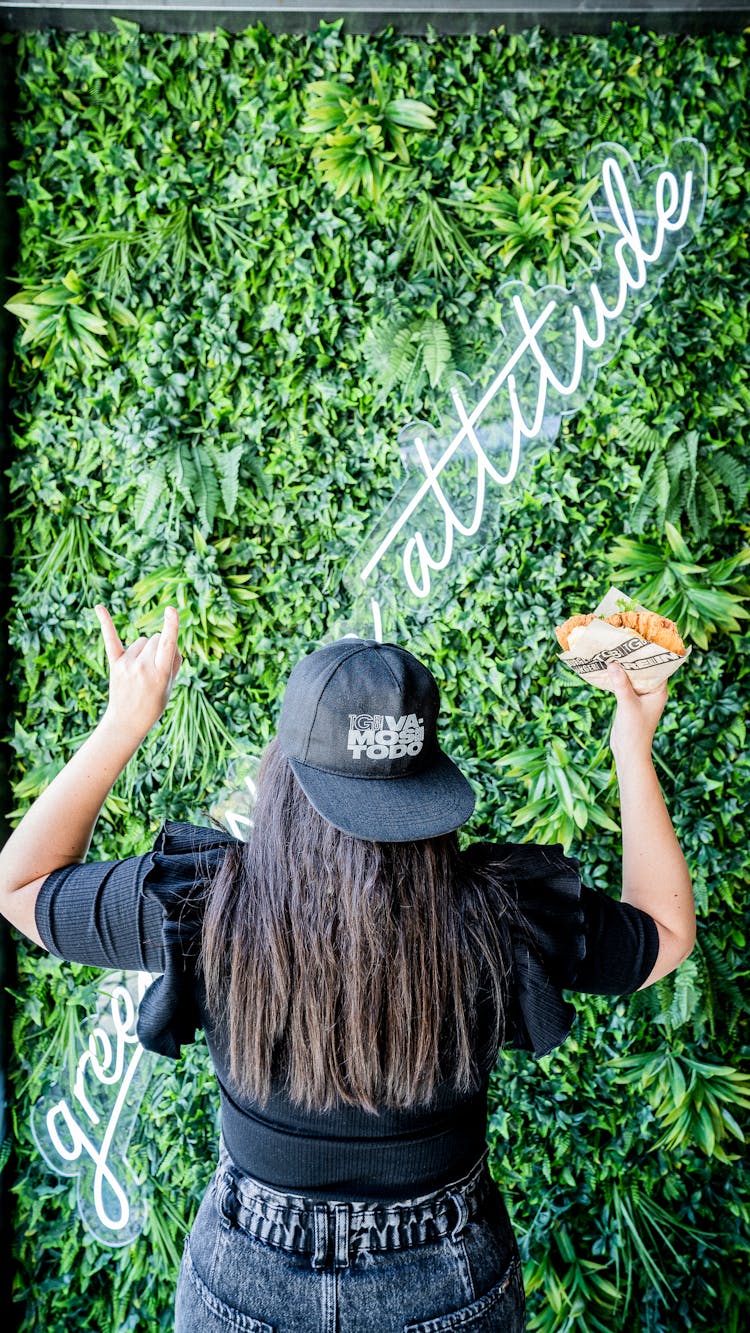
{"type": "Polygon", "coordinates": [[[350,1202],[306,1198],[270,1189],[240,1170],[221,1144],[216,1198],[221,1222],[237,1226],[277,1249],[309,1254],[312,1266],[348,1268],[361,1250],[373,1253],[429,1245],[444,1236],[458,1240],[496,1190],[489,1149],[461,1180],[418,1198],[350,1202]]]}

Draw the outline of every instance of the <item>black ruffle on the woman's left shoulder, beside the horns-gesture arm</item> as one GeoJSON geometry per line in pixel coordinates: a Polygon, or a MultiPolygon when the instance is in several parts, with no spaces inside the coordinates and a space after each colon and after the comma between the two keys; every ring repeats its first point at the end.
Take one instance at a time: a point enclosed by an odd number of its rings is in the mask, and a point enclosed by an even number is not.
{"type": "Polygon", "coordinates": [[[167,820],[156,837],[141,892],[163,908],[164,973],[145,992],[137,1020],[141,1046],[177,1060],[194,1041],[200,1013],[194,994],[201,912],[198,892],[240,842],[224,829],[167,820]]]}

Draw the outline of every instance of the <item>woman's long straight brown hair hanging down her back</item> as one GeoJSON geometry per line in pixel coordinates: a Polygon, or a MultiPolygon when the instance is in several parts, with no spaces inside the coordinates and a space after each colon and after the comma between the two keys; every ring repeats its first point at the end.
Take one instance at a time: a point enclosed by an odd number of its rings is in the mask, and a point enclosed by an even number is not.
{"type": "Polygon", "coordinates": [[[514,904],[497,872],[472,865],[456,833],[341,833],[276,740],[253,821],[206,886],[198,964],[240,1094],[262,1105],[272,1070],[293,1102],[320,1110],[413,1106],[442,1081],[477,1088],[477,1054],[489,1066],[505,1034],[514,904]]]}

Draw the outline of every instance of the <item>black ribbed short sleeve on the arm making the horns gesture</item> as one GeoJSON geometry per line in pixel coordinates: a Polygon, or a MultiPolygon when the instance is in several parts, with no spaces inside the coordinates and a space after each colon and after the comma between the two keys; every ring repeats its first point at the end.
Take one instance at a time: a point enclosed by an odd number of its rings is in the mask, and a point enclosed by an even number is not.
{"type": "Polygon", "coordinates": [[[83,861],[52,870],[36,900],[36,928],[57,958],[93,968],[164,972],[163,909],[143,885],[153,854],[83,861]]]}

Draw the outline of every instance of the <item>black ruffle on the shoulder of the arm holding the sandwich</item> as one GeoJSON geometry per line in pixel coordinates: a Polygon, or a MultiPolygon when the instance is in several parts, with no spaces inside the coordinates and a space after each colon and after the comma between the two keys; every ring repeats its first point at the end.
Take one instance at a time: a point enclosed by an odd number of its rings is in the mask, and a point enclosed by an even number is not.
{"type": "Polygon", "coordinates": [[[546,1056],[570,1033],[575,1009],[561,990],[586,956],[579,862],[560,842],[477,842],[468,854],[497,866],[518,906],[512,926],[517,993],[506,1045],[546,1056]]]}

